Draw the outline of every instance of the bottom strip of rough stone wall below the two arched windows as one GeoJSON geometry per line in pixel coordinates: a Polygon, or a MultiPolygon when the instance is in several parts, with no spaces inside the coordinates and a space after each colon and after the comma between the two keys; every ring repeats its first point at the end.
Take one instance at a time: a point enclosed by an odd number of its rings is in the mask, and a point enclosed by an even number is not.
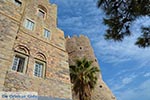
{"type": "Polygon", "coordinates": [[[8,71],[5,79],[4,91],[38,92],[39,96],[71,99],[70,85],[55,79],[28,77],[27,75],[8,71]],[[59,92],[58,92],[59,91],[59,92]]]}

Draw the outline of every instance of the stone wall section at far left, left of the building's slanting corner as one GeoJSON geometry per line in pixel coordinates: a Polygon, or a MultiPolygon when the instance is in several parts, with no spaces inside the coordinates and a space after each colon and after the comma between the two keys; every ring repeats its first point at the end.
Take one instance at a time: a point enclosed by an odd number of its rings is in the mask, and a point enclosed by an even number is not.
{"type": "Polygon", "coordinates": [[[9,2],[0,0],[0,91],[4,86],[6,71],[11,65],[12,48],[19,28],[19,11],[13,12],[14,9],[9,2]]]}

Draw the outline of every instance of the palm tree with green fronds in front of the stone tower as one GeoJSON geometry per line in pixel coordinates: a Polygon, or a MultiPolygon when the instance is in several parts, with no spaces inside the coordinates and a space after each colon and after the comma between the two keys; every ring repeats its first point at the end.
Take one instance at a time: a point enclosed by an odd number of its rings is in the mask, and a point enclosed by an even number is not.
{"type": "Polygon", "coordinates": [[[70,66],[73,91],[80,100],[91,100],[91,92],[97,82],[98,67],[92,66],[92,61],[86,58],[76,60],[76,64],[70,66]]]}

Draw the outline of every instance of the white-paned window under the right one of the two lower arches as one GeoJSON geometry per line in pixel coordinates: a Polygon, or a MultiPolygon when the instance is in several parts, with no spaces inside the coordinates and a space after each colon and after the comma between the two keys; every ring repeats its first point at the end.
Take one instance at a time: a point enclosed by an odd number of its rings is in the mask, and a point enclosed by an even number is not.
{"type": "Polygon", "coordinates": [[[34,66],[34,76],[42,77],[43,76],[43,68],[44,64],[40,62],[35,62],[34,66]]]}

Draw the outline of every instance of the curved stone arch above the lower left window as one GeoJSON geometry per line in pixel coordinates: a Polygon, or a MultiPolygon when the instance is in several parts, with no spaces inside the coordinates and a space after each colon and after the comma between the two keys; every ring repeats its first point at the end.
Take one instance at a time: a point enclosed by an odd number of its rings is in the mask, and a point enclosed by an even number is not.
{"type": "Polygon", "coordinates": [[[17,45],[15,48],[14,48],[15,51],[18,51],[18,52],[21,52],[21,53],[24,53],[24,54],[27,54],[27,55],[30,55],[30,50],[28,47],[24,46],[24,45],[17,45]]]}

